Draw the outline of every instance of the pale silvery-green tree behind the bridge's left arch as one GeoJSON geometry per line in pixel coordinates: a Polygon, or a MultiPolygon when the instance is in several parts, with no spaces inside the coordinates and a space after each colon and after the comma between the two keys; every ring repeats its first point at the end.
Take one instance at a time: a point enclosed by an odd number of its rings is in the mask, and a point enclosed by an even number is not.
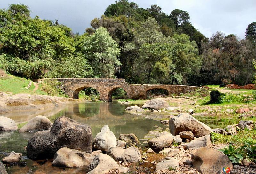
{"type": "Polygon", "coordinates": [[[121,66],[121,62],[117,59],[120,48],[104,27],[98,28],[94,34],[84,38],[82,51],[95,75],[101,75],[102,78],[113,78],[114,68],[121,66]]]}

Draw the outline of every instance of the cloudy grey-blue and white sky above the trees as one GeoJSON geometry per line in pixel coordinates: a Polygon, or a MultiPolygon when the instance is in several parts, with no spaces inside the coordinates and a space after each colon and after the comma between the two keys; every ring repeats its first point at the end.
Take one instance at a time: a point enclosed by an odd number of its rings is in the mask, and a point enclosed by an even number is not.
{"type": "MultiPolygon", "coordinates": [[[[132,1],[132,0],[129,0],[132,1]]],[[[245,37],[247,26],[256,22],[256,0],[133,0],[142,8],[152,4],[162,7],[170,14],[178,8],[190,15],[190,22],[206,37],[216,31],[223,31],[226,35],[235,34],[245,37]]],[[[104,13],[108,5],[115,0],[0,0],[0,8],[8,8],[9,4],[22,3],[28,5],[31,17],[65,24],[83,34],[90,21],[104,13]]]]}

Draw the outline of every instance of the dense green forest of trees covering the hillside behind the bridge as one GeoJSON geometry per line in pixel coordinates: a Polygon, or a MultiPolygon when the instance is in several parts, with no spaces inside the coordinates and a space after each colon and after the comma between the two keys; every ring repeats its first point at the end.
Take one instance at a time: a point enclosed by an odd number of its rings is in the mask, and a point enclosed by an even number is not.
{"type": "Polygon", "coordinates": [[[79,35],[71,28],[30,17],[28,6],[0,9],[0,69],[27,77],[124,78],[128,83],[251,83],[256,22],[246,39],[218,31],[206,38],[189,13],[168,14],[157,4],[110,4],[79,35]]]}

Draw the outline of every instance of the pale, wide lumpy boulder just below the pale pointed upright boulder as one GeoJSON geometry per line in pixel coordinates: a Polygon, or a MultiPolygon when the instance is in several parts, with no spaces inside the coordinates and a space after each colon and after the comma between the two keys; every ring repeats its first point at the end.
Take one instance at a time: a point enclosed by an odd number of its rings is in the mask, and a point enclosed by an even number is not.
{"type": "Polygon", "coordinates": [[[124,163],[138,162],[141,160],[140,151],[136,147],[129,147],[127,149],[111,147],[106,154],[111,156],[115,161],[122,161],[124,163]]]}

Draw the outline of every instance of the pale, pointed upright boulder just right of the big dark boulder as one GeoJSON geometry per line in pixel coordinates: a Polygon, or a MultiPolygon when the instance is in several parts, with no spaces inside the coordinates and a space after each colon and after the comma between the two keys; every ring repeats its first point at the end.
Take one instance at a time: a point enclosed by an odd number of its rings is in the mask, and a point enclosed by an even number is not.
{"type": "Polygon", "coordinates": [[[110,147],[116,146],[116,136],[110,131],[108,125],[101,128],[100,133],[93,140],[95,149],[107,151],[110,147]]]}

